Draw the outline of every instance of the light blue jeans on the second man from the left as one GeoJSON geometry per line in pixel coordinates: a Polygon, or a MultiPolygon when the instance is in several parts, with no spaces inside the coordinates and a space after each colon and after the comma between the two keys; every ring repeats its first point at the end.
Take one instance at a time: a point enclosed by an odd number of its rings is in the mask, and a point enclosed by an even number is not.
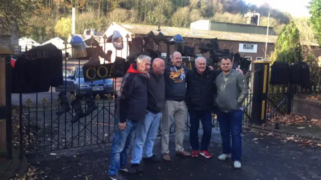
{"type": "Polygon", "coordinates": [[[152,147],[157,135],[161,112],[153,113],[147,110],[145,119],[138,122],[137,133],[132,148],[131,163],[139,163],[142,157],[151,157],[152,147]]]}

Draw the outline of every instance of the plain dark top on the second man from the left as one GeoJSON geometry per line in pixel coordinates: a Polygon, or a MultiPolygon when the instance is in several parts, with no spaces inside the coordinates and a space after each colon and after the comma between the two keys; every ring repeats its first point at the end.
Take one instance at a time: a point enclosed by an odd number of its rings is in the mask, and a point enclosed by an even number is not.
{"type": "Polygon", "coordinates": [[[157,75],[152,69],[149,70],[150,78],[147,85],[147,110],[158,113],[165,105],[165,79],[164,75],[157,75]]]}

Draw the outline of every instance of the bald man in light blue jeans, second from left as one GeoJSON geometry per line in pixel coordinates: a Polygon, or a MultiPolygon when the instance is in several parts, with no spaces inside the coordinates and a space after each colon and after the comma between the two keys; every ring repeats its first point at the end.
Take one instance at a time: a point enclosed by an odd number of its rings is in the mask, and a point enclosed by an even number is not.
{"type": "Polygon", "coordinates": [[[161,111],[165,104],[165,61],[155,58],[152,62],[152,69],[149,70],[147,86],[147,110],[145,119],[137,124],[136,138],[132,149],[131,166],[128,172],[135,173],[142,171],[140,160],[158,162],[159,159],[152,153],[154,139],[157,134],[161,111]]]}

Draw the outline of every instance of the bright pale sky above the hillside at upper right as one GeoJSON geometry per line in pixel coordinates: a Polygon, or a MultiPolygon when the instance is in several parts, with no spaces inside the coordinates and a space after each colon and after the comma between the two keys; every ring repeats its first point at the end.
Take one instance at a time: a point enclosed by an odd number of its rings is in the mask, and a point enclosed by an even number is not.
{"type": "Polygon", "coordinates": [[[289,12],[293,17],[309,16],[308,9],[305,7],[310,0],[245,0],[246,2],[261,5],[264,2],[271,7],[281,11],[289,12]],[[295,2],[294,2],[295,1],[295,2]]]}

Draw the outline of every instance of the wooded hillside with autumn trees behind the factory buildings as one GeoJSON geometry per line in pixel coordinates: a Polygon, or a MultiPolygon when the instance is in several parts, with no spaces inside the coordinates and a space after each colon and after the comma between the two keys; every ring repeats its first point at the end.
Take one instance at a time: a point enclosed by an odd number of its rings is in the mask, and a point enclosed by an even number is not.
{"type": "Polygon", "coordinates": [[[72,7],[77,12],[76,33],[86,28],[104,31],[112,21],[176,27],[189,27],[199,19],[245,23],[243,14],[255,10],[262,15],[261,25],[267,25],[270,12],[270,25],[278,34],[291,18],[267,3],[257,6],[243,0],[10,0],[0,4],[0,17],[10,19],[19,36],[41,42],[55,36],[66,37],[69,29],[61,28],[71,26],[61,23],[70,22],[72,7]]]}

